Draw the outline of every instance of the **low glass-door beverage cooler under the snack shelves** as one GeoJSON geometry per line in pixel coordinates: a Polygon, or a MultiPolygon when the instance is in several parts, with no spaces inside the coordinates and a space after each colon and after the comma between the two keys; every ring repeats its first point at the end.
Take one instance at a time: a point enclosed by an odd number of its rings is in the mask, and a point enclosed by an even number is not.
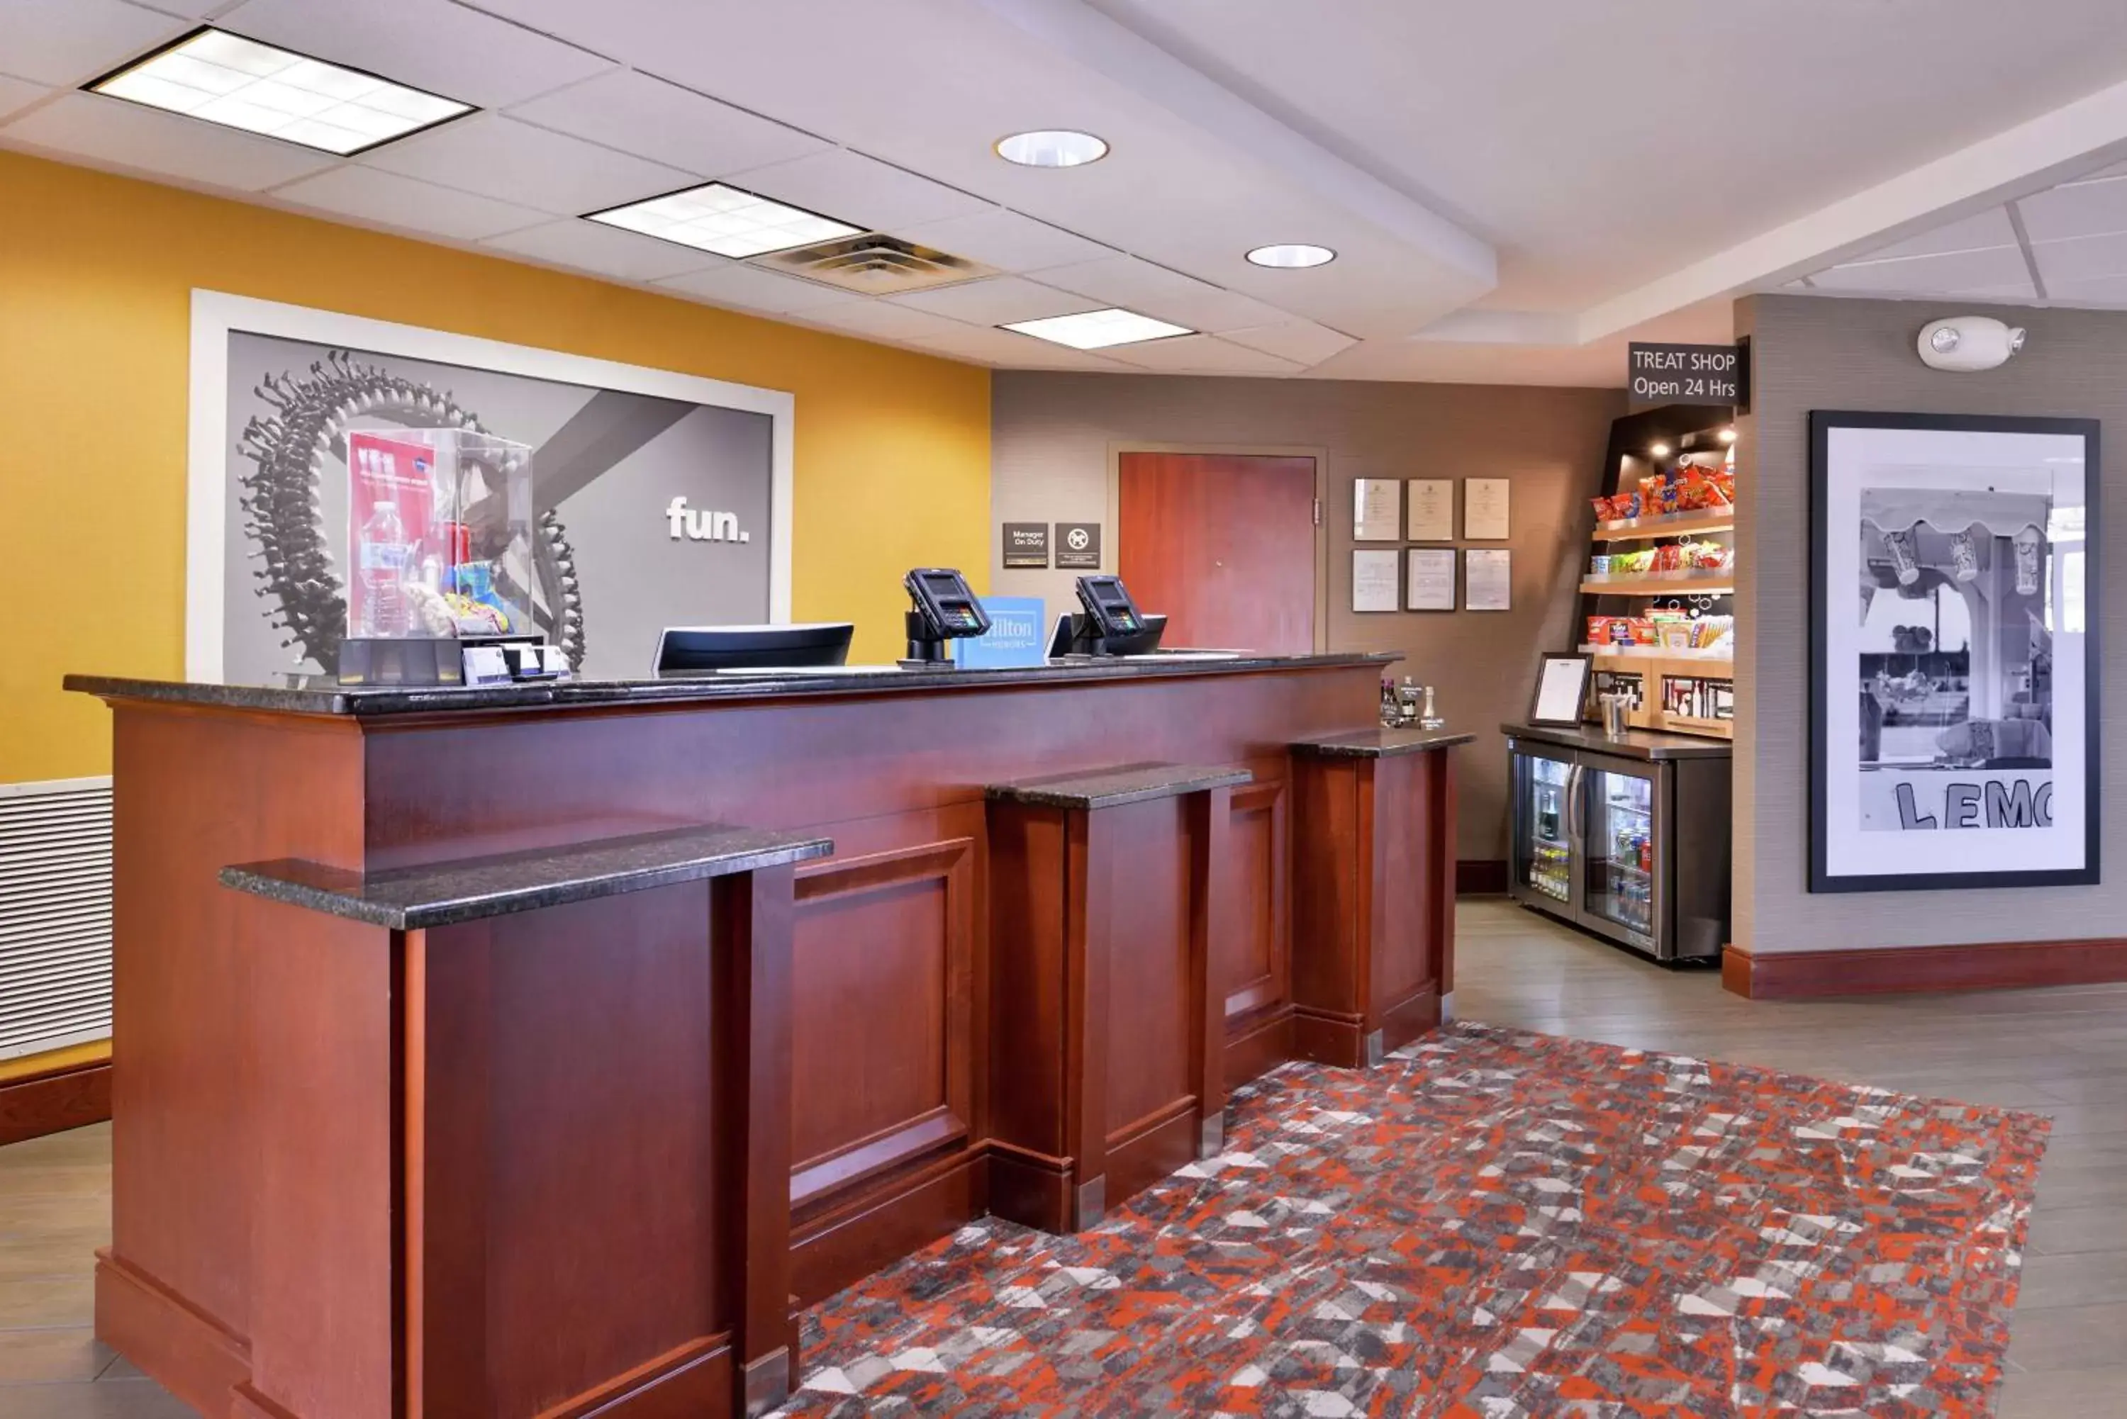
{"type": "Polygon", "coordinates": [[[1510,891],[1661,962],[1719,959],[1729,917],[1729,745],[1508,728],[1510,891]]]}

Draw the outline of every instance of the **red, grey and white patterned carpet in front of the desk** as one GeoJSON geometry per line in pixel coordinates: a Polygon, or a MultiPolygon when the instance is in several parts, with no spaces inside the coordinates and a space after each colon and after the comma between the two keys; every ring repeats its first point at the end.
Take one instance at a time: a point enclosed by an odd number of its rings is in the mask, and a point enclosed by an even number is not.
{"type": "Polygon", "coordinates": [[[1453,1025],[817,1306],[834,1415],[1991,1415],[2046,1119],[1453,1025]]]}

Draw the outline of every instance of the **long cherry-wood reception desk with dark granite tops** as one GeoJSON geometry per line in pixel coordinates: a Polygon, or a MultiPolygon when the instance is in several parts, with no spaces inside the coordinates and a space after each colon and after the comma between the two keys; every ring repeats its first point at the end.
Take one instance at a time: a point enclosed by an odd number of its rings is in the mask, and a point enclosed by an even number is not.
{"type": "Polygon", "coordinates": [[[206,1415],[759,1413],[795,1313],[1068,1230],[1440,1019],[1380,657],[113,706],[98,1334],[206,1415]],[[1393,998],[1387,998],[1391,996],[1393,998]]]}

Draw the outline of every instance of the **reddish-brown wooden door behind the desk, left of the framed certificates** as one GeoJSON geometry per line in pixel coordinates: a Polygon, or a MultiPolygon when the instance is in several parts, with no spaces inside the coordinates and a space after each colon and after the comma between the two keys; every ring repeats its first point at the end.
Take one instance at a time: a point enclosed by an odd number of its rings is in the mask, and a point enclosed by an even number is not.
{"type": "Polygon", "coordinates": [[[1123,453],[1117,566],[1166,647],[1314,649],[1314,460],[1123,453]]]}

